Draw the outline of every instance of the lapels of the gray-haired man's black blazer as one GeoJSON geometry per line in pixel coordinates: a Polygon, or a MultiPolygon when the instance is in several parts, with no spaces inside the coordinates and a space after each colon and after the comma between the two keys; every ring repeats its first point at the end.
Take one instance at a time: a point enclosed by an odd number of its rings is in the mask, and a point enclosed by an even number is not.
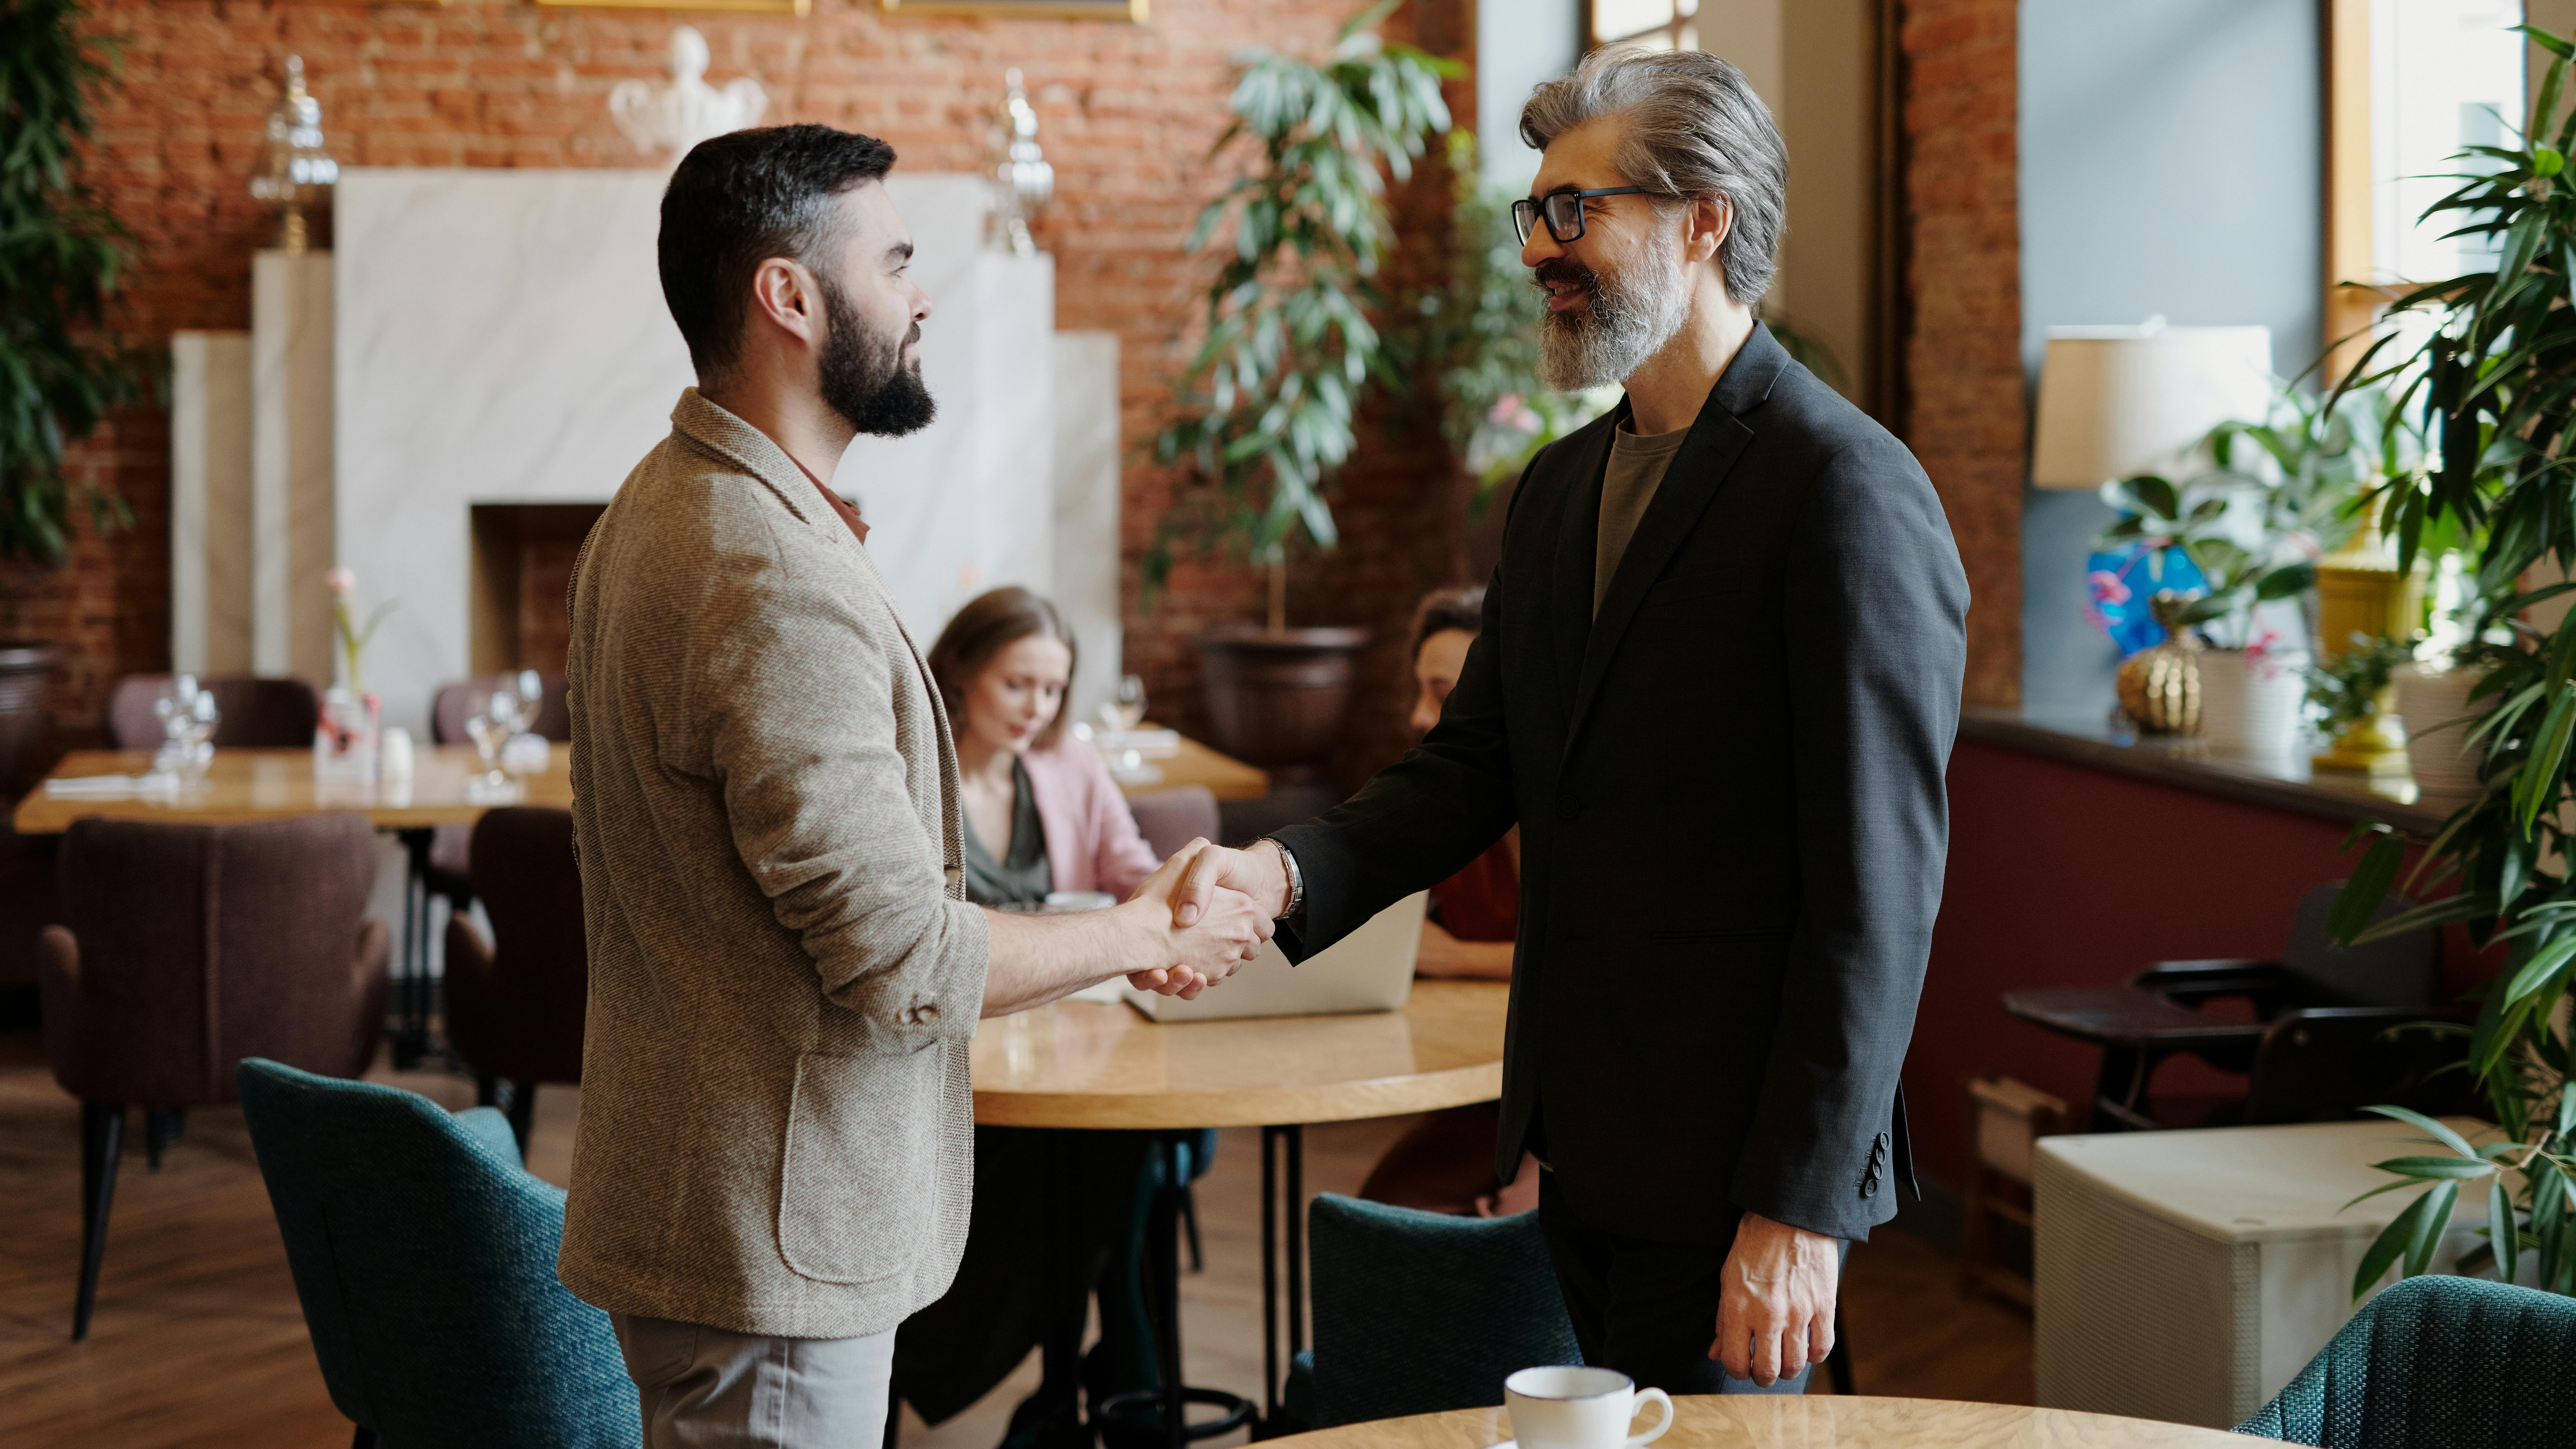
{"type": "MultiPolygon", "coordinates": [[[[1708,389],[1708,402],[1700,405],[1698,420],[1690,425],[1690,436],[1682,438],[1682,451],[1672,454],[1672,464],[1664,469],[1664,482],[1654,490],[1654,503],[1646,505],[1646,516],[1636,521],[1636,534],[1628,536],[1628,552],[1620,554],[1618,572],[1610,575],[1610,590],[1602,596],[1602,608],[1592,616],[1592,632],[1584,639],[1582,670],[1574,683],[1574,712],[1566,719],[1566,755],[1574,755],[1577,740],[1584,732],[1584,717],[1592,712],[1592,699],[1600,694],[1602,676],[1610,673],[1610,657],[1618,652],[1620,637],[1628,632],[1628,621],[1636,619],[1638,603],[1646,601],[1646,588],[1664,575],[1664,565],[1690,536],[1692,523],[1708,511],[1708,503],[1726,485],[1726,474],[1734,472],[1736,459],[1744,456],[1744,446],[1754,441],[1754,431],[1744,425],[1741,415],[1752,413],[1770,397],[1772,382],[1780,376],[1783,364],[1788,364],[1788,351],[1772,340],[1770,327],[1754,322],[1744,345],[1736,348],[1734,361],[1718,376],[1718,384],[1708,389]]],[[[1615,418],[1628,418],[1628,405],[1620,402],[1615,418]]],[[[1607,438],[1602,433],[1602,456],[1607,459],[1607,438]]],[[[1600,539],[1600,490],[1602,469],[1592,469],[1592,490],[1587,518],[1582,521],[1584,544],[1584,598],[1582,608],[1592,608],[1592,549],[1600,539]]],[[[1566,529],[1574,534],[1574,529],[1566,529]]],[[[1558,554],[1564,557],[1564,554],[1558,554]]],[[[1564,567],[1558,567],[1558,588],[1564,588],[1564,567]]],[[[1561,596],[1558,596],[1561,601],[1561,596]]]]}

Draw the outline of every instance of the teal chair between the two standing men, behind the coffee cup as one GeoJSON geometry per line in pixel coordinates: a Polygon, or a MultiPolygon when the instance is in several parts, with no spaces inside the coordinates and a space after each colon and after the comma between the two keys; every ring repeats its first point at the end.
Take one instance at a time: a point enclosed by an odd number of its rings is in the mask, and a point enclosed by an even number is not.
{"type": "Polygon", "coordinates": [[[1288,1374],[1309,1428],[1484,1408],[1533,1364],[1582,1364],[1538,1214],[1450,1217],[1321,1194],[1306,1214],[1314,1351],[1288,1374]]]}

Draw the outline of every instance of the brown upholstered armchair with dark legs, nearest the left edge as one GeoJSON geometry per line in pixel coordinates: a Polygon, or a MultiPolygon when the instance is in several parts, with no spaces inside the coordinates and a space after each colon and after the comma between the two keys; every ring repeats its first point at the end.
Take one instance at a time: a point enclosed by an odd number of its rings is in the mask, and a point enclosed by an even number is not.
{"type": "Polygon", "coordinates": [[[152,1165],[191,1106],[234,1101],[242,1057],[355,1078],[384,1034],[389,933],[366,918],[363,815],[263,825],[77,820],[39,987],[54,1080],[80,1098],[80,1294],[88,1338],[126,1106],[152,1165]]]}

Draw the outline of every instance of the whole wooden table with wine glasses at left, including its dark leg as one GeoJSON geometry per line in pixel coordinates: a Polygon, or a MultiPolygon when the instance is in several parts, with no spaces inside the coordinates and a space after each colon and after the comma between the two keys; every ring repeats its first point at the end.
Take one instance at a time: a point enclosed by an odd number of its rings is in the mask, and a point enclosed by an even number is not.
{"type": "MultiPolygon", "coordinates": [[[[139,776],[152,768],[147,750],[72,750],[54,779],[139,776]]],[[[572,750],[546,750],[546,768],[518,776],[515,792],[474,786],[484,773],[471,745],[422,745],[412,753],[407,784],[317,781],[312,750],[216,750],[204,779],[175,794],[124,799],[57,797],[39,784],[18,802],[21,835],[59,835],[72,820],[160,820],[170,825],[255,825],[353,810],[376,830],[394,833],[410,861],[402,890],[402,951],[394,975],[394,1065],[412,1067],[430,1049],[430,838],[440,825],[474,825],[497,804],[572,807],[572,750]]]]}

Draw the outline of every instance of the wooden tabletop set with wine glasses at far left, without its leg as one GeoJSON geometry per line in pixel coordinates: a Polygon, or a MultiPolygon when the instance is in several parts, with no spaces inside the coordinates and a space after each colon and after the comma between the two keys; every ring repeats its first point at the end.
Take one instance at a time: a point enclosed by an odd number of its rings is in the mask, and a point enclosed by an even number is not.
{"type": "MultiPolygon", "coordinates": [[[[178,794],[129,799],[52,797],[39,784],[18,802],[21,835],[59,835],[72,820],[165,820],[173,825],[247,825],[355,810],[376,830],[433,830],[471,825],[495,804],[572,807],[572,750],[546,753],[544,773],[520,776],[518,799],[479,799],[466,786],[482,773],[471,745],[425,745],[412,755],[410,786],[317,781],[312,750],[216,750],[206,779],[178,794]]],[[[139,776],[152,768],[147,750],[72,750],[54,779],[139,776]]]]}

